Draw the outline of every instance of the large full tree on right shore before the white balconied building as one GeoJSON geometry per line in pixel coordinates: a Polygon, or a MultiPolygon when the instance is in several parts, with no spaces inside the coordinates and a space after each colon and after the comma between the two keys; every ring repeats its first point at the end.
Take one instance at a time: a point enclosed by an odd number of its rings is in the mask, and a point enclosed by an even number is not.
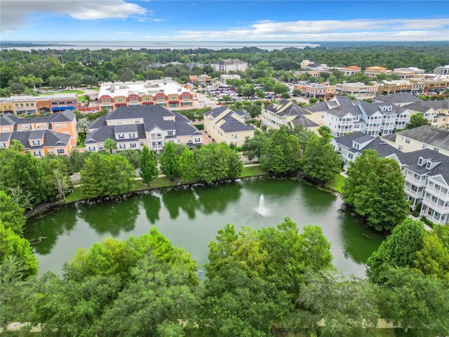
{"type": "Polygon", "coordinates": [[[408,213],[404,178],[398,162],[364,150],[351,163],[343,198],[376,230],[392,230],[408,213]]]}

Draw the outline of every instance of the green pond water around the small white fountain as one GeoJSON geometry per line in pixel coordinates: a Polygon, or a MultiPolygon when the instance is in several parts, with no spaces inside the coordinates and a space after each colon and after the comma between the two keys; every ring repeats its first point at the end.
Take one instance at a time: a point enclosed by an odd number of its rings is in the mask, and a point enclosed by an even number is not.
{"type": "Polygon", "coordinates": [[[154,190],[122,201],[67,205],[43,218],[31,218],[25,237],[46,237],[33,245],[40,270],[60,273],[62,263],[80,247],[88,249],[105,237],[138,236],[156,226],[173,244],[189,251],[203,270],[209,242],[227,223],[238,229],[242,225],[257,229],[276,226],[286,216],[300,228],[321,226],[331,243],[333,264],[344,274],[364,277],[364,263],[384,239],[344,211],[340,195],[293,180],[265,178],[154,190]],[[257,212],[262,194],[264,216],[257,212]]]}

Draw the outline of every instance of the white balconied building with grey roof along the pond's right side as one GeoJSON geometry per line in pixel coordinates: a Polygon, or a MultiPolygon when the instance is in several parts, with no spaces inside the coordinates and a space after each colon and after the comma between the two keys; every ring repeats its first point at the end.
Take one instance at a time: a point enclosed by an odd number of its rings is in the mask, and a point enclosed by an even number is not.
{"type": "Polygon", "coordinates": [[[340,154],[347,169],[363,150],[376,150],[381,157],[398,161],[405,178],[404,191],[412,207],[422,204],[421,216],[434,223],[449,223],[449,157],[424,149],[401,152],[380,138],[352,133],[333,138],[330,143],[340,154]]]}

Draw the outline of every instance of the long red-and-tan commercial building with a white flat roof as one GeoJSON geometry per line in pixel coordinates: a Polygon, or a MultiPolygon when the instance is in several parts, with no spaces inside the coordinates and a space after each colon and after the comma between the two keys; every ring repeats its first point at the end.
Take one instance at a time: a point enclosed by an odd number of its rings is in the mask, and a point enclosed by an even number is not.
{"type": "Polygon", "coordinates": [[[105,82],[98,92],[101,109],[135,105],[158,105],[170,109],[189,109],[194,104],[194,92],[170,77],[151,81],[105,82]]]}

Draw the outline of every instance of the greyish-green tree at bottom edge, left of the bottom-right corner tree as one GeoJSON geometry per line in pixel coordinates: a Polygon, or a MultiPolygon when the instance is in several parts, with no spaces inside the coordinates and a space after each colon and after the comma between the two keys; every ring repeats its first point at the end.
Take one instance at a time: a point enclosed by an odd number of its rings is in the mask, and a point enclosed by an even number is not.
{"type": "Polygon", "coordinates": [[[333,269],[309,271],[299,293],[292,325],[306,329],[307,336],[369,336],[377,326],[377,289],[367,281],[347,279],[333,269]]]}

